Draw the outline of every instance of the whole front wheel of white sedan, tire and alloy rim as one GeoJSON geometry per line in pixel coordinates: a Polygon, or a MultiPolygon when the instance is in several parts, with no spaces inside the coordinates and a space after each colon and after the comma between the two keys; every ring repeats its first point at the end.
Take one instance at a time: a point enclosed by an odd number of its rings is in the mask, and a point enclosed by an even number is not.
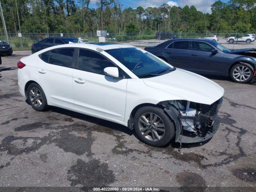
{"type": "Polygon", "coordinates": [[[138,137],[146,144],[160,147],[168,144],[174,137],[174,125],[164,110],[146,106],[134,116],[134,128],[138,137]]]}

